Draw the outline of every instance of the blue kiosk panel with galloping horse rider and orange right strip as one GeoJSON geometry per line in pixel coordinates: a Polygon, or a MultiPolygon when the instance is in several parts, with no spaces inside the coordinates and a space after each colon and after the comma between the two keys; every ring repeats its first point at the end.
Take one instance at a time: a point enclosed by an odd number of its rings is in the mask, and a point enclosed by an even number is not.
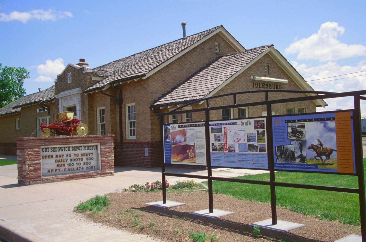
{"type": "Polygon", "coordinates": [[[272,117],[275,169],[355,174],[351,114],[272,117]]]}

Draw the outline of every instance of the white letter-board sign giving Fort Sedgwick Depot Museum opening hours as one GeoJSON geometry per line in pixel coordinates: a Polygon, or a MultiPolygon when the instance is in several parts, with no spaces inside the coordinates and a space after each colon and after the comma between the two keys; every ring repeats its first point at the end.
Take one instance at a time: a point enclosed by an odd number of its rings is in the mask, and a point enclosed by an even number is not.
{"type": "Polygon", "coordinates": [[[41,146],[42,176],[100,171],[100,144],[41,146]]]}

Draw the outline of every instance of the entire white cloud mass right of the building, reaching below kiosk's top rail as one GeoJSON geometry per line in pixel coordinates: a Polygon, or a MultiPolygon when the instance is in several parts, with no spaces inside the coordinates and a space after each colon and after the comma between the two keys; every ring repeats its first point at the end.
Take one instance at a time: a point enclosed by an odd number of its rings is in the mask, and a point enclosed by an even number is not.
{"type": "MultiPolygon", "coordinates": [[[[285,49],[287,54],[297,54],[297,60],[291,61],[291,64],[314,90],[366,90],[366,46],[341,43],[337,38],[342,34],[346,34],[344,27],[335,22],[326,22],[317,33],[295,40],[285,49]]],[[[325,109],[318,108],[318,111],[354,108],[352,98],[324,101],[328,106],[325,109]]],[[[361,109],[361,113],[366,113],[366,106],[361,106],[361,109]]]]}

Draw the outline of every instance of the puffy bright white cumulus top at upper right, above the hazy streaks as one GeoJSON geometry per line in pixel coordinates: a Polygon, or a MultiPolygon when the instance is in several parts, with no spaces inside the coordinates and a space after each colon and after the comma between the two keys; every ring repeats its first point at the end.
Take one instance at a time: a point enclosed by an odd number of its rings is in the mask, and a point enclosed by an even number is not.
{"type": "Polygon", "coordinates": [[[336,22],[326,22],[317,33],[308,38],[296,40],[285,49],[285,54],[297,55],[297,60],[312,59],[320,61],[339,60],[355,56],[366,56],[366,46],[347,45],[337,37],[343,35],[345,28],[336,22]]]}

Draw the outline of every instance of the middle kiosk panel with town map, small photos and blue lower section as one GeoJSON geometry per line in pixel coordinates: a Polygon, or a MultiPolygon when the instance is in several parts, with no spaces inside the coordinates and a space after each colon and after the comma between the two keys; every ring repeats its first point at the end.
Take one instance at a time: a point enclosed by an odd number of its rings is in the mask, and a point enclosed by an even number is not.
{"type": "Polygon", "coordinates": [[[210,122],[211,166],[268,169],[265,118],[210,122]]]}

